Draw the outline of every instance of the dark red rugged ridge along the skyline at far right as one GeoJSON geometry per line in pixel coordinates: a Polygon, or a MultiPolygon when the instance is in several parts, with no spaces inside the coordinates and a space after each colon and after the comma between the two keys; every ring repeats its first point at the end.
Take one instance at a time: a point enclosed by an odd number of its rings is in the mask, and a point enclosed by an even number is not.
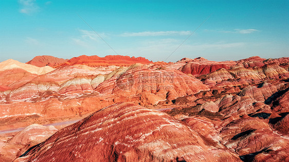
{"type": "MultiPolygon", "coordinates": [[[[211,74],[217,70],[226,69],[229,70],[231,73],[236,73],[236,75],[240,75],[243,73],[243,76],[252,75],[252,77],[248,77],[250,79],[255,79],[254,77],[260,77],[262,73],[263,75],[276,75],[283,71],[282,73],[287,73],[285,70],[289,62],[289,57],[282,57],[282,58],[261,58],[259,56],[253,56],[245,59],[240,59],[238,61],[224,61],[224,62],[213,62],[207,60],[203,57],[197,57],[194,59],[191,58],[183,58],[180,59],[178,64],[184,64],[178,70],[182,71],[186,74],[192,74],[194,76],[200,76],[204,74],[211,74]],[[268,70],[271,67],[275,66],[275,68],[271,69],[274,72],[268,70]],[[259,68],[259,69],[258,69],[259,68]],[[277,72],[275,72],[277,70],[277,72]],[[255,74],[251,74],[255,73],[255,74]]],[[[219,77],[224,77],[223,75],[218,74],[219,77]]]]}

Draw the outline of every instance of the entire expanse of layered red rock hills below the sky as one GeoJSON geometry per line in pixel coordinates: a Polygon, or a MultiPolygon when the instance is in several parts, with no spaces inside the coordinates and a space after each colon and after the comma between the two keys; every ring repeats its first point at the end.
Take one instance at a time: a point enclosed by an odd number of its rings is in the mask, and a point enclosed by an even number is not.
{"type": "Polygon", "coordinates": [[[86,116],[17,160],[288,160],[288,57],[152,63],[83,55],[63,64],[37,58],[57,68],[0,63],[2,161],[52,134],[2,130],[86,116]]]}

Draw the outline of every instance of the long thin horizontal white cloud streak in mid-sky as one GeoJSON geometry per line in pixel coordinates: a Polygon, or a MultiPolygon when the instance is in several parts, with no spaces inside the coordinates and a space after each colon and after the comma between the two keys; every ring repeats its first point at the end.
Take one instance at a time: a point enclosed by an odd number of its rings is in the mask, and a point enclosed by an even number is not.
{"type": "Polygon", "coordinates": [[[120,36],[165,36],[165,35],[190,35],[191,31],[144,31],[137,33],[122,33],[120,36]]]}

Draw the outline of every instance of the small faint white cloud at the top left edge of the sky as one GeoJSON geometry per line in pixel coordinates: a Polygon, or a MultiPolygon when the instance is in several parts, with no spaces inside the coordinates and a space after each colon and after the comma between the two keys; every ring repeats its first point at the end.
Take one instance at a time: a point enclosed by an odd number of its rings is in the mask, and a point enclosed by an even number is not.
{"type": "Polygon", "coordinates": [[[21,13],[31,14],[37,12],[39,9],[39,6],[35,4],[35,0],[19,0],[18,3],[21,6],[19,10],[21,13]]]}

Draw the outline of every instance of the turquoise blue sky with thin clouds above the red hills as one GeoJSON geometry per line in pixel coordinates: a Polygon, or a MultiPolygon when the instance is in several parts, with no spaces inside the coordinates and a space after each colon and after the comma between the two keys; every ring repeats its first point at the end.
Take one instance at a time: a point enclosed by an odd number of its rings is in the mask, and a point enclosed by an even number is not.
{"type": "Polygon", "coordinates": [[[118,54],[166,62],[198,56],[289,56],[289,1],[0,1],[0,62],[118,54]]]}

